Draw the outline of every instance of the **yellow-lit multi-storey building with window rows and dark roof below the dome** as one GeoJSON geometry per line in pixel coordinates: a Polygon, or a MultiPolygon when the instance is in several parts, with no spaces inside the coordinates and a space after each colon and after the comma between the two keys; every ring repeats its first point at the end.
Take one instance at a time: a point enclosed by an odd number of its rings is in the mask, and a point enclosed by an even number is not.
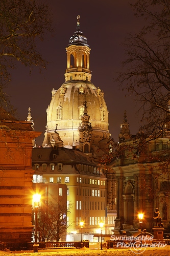
{"type": "Polygon", "coordinates": [[[96,163],[80,150],[35,147],[32,166],[35,170],[33,183],[37,187],[38,184],[40,187],[42,184],[58,184],[59,190],[53,191],[54,195],[50,197],[62,197],[60,185],[67,186],[67,233],[79,232],[81,221],[84,222],[84,233],[96,233],[99,223],[106,221],[107,206],[106,177],[96,163]]]}

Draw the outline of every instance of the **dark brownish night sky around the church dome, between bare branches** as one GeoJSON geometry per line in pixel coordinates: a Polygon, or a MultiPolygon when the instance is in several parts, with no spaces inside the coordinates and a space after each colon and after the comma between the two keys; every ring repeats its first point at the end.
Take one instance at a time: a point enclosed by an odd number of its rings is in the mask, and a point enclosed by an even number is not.
{"type": "Polygon", "coordinates": [[[50,63],[43,75],[37,68],[29,75],[29,69],[17,66],[12,71],[12,82],[8,93],[11,103],[17,108],[17,118],[26,120],[28,108],[31,108],[35,130],[42,135],[36,139],[41,145],[46,125],[46,108],[51,101],[51,91],[57,90],[65,81],[66,50],[68,40],[77,27],[77,15],[80,15],[80,29],[88,39],[90,46],[91,82],[104,91],[109,110],[109,131],[117,141],[120,123],[127,111],[131,134],[136,134],[139,127],[136,116],[137,108],[131,97],[119,90],[114,82],[120,62],[125,59],[124,47],[121,46],[129,32],[135,32],[141,26],[134,16],[128,2],[134,0],[46,0],[50,3],[54,16],[54,36],[46,35],[38,45],[42,56],[50,63]]]}

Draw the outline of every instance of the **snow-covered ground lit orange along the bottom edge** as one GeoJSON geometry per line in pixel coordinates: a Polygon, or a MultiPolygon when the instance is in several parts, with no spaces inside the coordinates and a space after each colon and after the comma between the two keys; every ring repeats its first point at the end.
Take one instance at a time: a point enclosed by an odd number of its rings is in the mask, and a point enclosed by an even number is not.
{"type": "Polygon", "coordinates": [[[56,250],[39,250],[38,252],[31,252],[31,251],[23,251],[23,252],[4,252],[0,251],[0,255],[4,256],[135,256],[135,255],[142,255],[142,256],[169,256],[170,255],[170,245],[166,245],[165,247],[155,247],[155,248],[138,248],[134,251],[134,249],[126,248],[126,249],[106,249],[103,250],[99,249],[56,249],[56,250]],[[133,251],[132,251],[133,250],[133,251]]]}

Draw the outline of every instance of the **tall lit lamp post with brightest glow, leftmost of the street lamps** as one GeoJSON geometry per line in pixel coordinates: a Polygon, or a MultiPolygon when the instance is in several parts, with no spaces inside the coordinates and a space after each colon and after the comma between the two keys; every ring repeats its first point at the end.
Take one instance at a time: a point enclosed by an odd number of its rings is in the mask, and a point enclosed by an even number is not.
{"type": "Polygon", "coordinates": [[[39,194],[33,195],[33,204],[34,204],[34,211],[35,211],[35,241],[33,245],[34,252],[38,252],[38,246],[39,246],[39,244],[37,243],[37,211],[39,207],[40,198],[41,198],[41,195],[39,194]]]}

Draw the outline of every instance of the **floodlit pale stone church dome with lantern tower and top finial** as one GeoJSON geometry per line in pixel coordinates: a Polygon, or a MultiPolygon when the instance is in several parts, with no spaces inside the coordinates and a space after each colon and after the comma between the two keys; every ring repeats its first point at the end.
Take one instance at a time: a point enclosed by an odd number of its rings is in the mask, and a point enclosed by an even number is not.
{"type": "MultiPolygon", "coordinates": [[[[77,32],[80,32],[79,16],[77,22],[77,32]]],[[[108,130],[108,110],[104,99],[104,92],[96,88],[91,82],[91,72],[89,69],[90,48],[87,45],[87,38],[82,37],[69,39],[67,52],[67,69],[65,82],[58,89],[52,90],[52,100],[47,108],[47,133],[57,131],[65,145],[79,143],[79,127],[81,126],[81,116],[83,115],[85,104],[89,115],[89,122],[92,126],[91,142],[99,145],[105,138],[109,139],[108,130]],[[85,40],[86,39],[86,40],[85,40]]],[[[43,141],[42,146],[46,146],[47,141],[43,141]]]]}

